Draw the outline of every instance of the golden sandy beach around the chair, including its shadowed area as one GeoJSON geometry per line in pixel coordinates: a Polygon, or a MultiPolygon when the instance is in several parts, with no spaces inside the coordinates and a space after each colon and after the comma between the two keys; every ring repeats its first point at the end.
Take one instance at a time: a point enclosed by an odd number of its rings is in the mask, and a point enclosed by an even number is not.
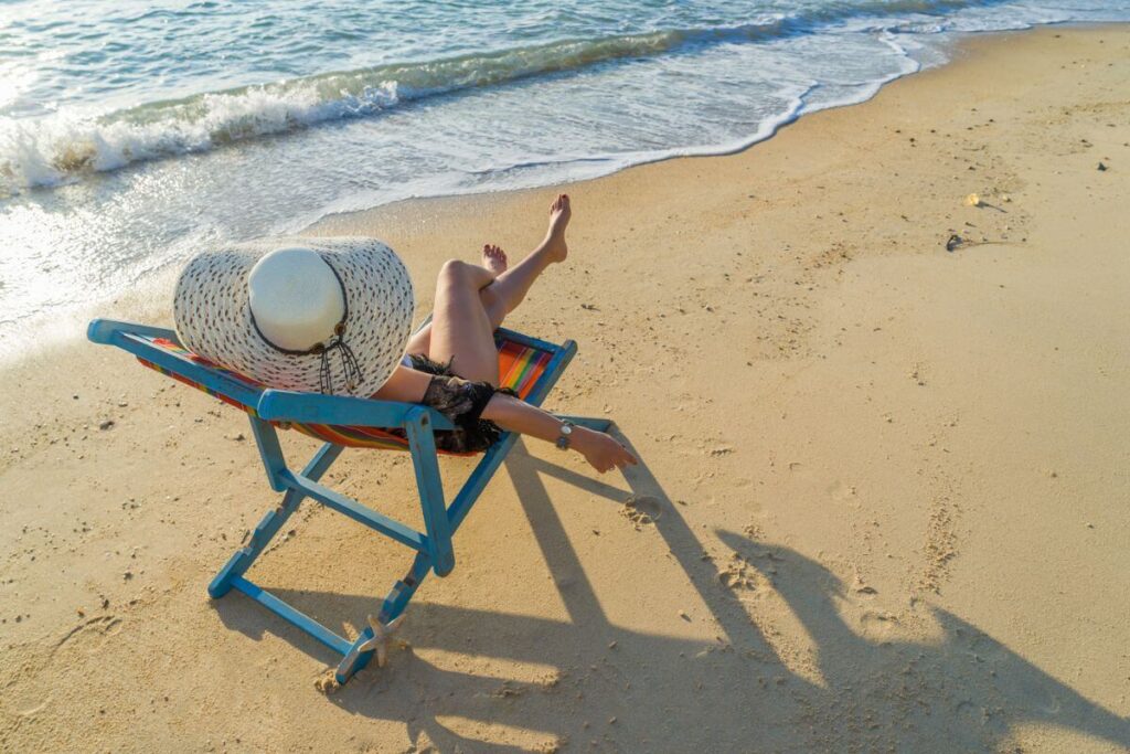
{"type": "MultiPolygon", "coordinates": [[[[341,688],[206,593],[276,497],[238,411],[77,338],[7,367],[0,751],[1130,749],[1128,81],[1125,26],[976,37],[740,154],[565,187],[570,259],[507,324],[579,343],[547,407],[641,466],[520,442],[341,688]]],[[[423,317],[559,190],[310,233],[389,242],[423,317]]],[[[419,518],[403,456],[328,484],[419,518]]],[[[254,579],[355,635],[405,551],[292,520],[254,579]]]]}

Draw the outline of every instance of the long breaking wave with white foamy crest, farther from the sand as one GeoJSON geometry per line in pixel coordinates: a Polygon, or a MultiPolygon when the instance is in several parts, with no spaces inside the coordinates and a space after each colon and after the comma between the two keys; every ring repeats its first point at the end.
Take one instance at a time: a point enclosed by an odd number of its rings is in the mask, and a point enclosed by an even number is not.
{"type": "Polygon", "coordinates": [[[320,123],[367,118],[425,97],[504,85],[633,58],[712,44],[803,34],[867,17],[937,15],[991,5],[985,0],[896,0],[834,3],[803,16],[762,23],[658,31],[321,73],[156,102],[97,116],[66,112],[0,120],[0,197],[55,185],[131,163],[207,151],[320,123]]]}

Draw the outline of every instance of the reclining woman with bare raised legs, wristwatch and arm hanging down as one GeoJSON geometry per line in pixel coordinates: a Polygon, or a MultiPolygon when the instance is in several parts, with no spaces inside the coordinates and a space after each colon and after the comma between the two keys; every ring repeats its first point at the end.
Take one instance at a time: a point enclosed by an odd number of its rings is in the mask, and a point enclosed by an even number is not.
{"type": "Polygon", "coordinates": [[[549,207],[545,241],[514,267],[502,249],[485,245],[481,265],[453,259],[440,270],[432,322],[409,339],[405,363],[376,397],[425,404],[452,419],[457,430],[436,432],[441,449],[485,450],[501,427],[575,450],[601,474],[636,463],[610,435],[573,426],[498,389],[494,331],[546,268],[565,261],[571,214],[563,193],[549,207]]]}

